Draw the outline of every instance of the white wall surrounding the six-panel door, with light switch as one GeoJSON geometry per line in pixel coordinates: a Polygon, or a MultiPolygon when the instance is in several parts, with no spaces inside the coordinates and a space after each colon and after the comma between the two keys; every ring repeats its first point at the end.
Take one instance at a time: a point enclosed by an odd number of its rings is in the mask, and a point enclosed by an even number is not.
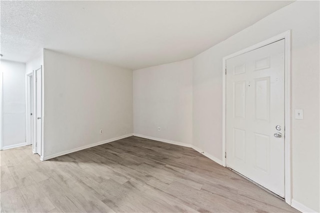
{"type": "Polygon", "coordinates": [[[222,57],[291,29],[293,200],[319,209],[319,2],[295,1],[193,58],[193,145],[222,159],[222,57]]]}

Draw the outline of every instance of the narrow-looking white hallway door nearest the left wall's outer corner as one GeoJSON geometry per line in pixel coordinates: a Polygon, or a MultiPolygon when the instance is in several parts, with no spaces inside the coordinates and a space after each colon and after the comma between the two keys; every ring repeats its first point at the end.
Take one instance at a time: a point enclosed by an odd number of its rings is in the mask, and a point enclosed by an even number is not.
{"type": "Polygon", "coordinates": [[[35,71],[36,74],[36,152],[41,155],[42,138],[42,67],[35,71]]]}

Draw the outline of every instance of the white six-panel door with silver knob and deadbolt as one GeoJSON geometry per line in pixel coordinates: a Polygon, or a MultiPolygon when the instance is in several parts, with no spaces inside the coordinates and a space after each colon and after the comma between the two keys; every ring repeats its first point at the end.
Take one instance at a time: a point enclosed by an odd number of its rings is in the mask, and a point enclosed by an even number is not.
{"type": "Polygon", "coordinates": [[[284,39],[226,60],[226,165],[284,197],[284,39]]]}

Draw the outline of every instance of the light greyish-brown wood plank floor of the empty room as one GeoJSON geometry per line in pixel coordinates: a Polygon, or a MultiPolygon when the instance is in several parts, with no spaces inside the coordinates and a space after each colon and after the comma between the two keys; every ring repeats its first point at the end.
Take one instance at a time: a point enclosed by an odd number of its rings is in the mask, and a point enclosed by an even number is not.
{"type": "Polygon", "coordinates": [[[127,137],[41,162],[0,151],[1,212],[298,212],[182,146],[127,137]]]}

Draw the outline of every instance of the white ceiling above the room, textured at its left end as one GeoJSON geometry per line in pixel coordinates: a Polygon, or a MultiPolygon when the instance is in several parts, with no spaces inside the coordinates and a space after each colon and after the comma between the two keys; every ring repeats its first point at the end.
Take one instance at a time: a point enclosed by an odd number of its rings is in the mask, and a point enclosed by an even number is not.
{"type": "Polygon", "coordinates": [[[2,59],[41,48],[137,69],[187,59],[292,1],[3,1],[2,59]]]}

